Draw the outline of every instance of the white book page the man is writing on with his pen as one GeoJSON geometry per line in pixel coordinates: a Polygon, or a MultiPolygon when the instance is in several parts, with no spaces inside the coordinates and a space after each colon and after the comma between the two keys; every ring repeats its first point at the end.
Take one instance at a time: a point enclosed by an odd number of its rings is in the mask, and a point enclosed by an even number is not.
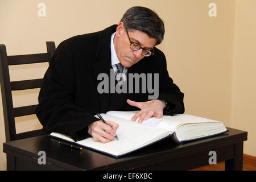
{"type": "Polygon", "coordinates": [[[113,155],[121,155],[126,152],[133,151],[154,142],[155,140],[166,137],[170,132],[158,129],[156,127],[148,127],[127,119],[117,118],[108,114],[101,114],[105,121],[113,121],[119,124],[117,137],[108,143],[94,142],[92,138],[80,140],[77,143],[93,148],[94,150],[104,151],[113,155]]]}

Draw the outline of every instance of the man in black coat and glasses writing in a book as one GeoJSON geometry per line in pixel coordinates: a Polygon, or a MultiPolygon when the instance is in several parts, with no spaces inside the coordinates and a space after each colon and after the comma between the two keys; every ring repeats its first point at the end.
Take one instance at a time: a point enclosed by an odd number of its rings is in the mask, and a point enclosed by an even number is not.
{"type": "Polygon", "coordinates": [[[169,77],[163,52],[155,48],[162,42],[163,35],[164,24],[159,16],[137,6],[127,10],[118,25],[61,42],[39,93],[36,115],[43,129],[75,140],[93,137],[105,143],[114,139],[118,124],[107,121],[106,125],[94,117],[96,113],[140,110],[131,119],[139,118],[139,123],[163,114],[184,113],[184,94],[169,77]],[[112,73],[114,88],[112,81],[101,87],[100,75],[110,78],[112,73]],[[155,87],[151,85],[157,91],[156,98],[152,99],[150,90],[142,92],[143,81],[139,82],[139,89],[135,84],[133,90],[129,90],[133,81],[129,76],[142,74],[157,78],[152,83],[155,87]],[[117,88],[123,92],[110,92],[117,88]]]}

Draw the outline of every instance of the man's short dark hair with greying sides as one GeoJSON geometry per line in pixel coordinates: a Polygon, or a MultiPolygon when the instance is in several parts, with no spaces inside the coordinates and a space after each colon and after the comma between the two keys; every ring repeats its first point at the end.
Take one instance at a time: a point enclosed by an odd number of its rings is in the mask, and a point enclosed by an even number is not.
{"type": "Polygon", "coordinates": [[[139,30],[160,44],[164,36],[164,23],[154,11],[141,6],[131,7],[120,20],[127,30],[139,30]]]}

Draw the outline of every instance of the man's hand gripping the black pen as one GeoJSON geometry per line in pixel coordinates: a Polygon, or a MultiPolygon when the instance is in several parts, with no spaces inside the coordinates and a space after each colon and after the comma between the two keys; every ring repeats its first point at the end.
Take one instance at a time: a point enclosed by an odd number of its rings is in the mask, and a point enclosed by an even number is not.
{"type": "Polygon", "coordinates": [[[106,121],[106,123],[99,120],[90,123],[88,126],[88,133],[92,136],[95,142],[106,143],[113,140],[117,135],[116,131],[119,127],[118,123],[113,121],[106,121]],[[106,123],[108,123],[108,125],[106,123]]]}

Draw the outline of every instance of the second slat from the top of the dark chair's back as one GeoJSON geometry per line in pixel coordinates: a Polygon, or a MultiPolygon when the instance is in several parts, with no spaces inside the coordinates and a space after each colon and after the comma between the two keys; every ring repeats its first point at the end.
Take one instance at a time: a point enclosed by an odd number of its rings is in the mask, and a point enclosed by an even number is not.
{"type": "Polygon", "coordinates": [[[41,88],[43,78],[34,80],[11,81],[11,90],[25,90],[41,88]]]}

